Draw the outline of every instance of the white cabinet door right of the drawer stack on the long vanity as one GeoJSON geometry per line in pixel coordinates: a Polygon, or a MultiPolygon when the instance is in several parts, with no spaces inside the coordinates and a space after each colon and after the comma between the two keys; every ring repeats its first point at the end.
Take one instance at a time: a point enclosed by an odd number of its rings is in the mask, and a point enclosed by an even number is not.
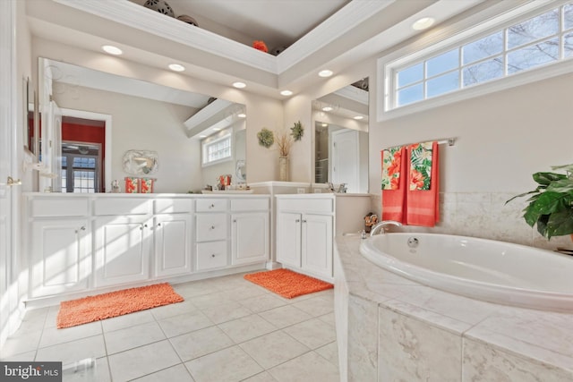
{"type": "Polygon", "coordinates": [[[231,215],[231,264],[269,259],[269,213],[231,215]]]}

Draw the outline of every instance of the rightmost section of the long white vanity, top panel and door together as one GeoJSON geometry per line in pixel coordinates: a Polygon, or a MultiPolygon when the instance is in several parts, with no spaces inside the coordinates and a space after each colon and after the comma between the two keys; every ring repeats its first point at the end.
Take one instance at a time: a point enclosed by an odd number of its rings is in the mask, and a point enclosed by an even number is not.
{"type": "Polygon", "coordinates": [[[269,199],[231,199],[231,264],[269,260],[269,199]]]}

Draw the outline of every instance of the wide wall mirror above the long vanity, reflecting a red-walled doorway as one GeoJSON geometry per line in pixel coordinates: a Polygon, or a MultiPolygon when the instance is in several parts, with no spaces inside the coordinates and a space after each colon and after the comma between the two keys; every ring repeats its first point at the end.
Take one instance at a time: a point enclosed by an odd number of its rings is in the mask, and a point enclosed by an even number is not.
{"type": "Polygon", "coordinates": [[[246,182],[244,105],[47,58],[38,79],[39,191],[105,192],[133,175],[153,178],[155,192],[201,191],[225,174],[246,182]],[[125,166],[130,152],[154,154],[125,166]],[[141,163],[153,171],[125,170],[141,163]]]}

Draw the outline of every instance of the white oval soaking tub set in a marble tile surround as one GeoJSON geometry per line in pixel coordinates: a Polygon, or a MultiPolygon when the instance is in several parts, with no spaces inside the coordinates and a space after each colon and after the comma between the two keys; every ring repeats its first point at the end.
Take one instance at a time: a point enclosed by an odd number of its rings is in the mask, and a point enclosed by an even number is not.
{"type": "Polygon", "coordinates": [[[478,300],[573,311],[573,258],[509,242],[439,233],[383,233],[360,252],[399,276],[478,300]]]}

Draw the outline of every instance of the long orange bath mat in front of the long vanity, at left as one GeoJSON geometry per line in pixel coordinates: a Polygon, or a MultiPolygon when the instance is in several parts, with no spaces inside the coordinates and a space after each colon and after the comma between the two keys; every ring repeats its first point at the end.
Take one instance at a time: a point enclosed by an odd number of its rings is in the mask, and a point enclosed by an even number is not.
{"type": "Polygon", "coordinates": [[[58,329],[184,301],[167,283],[63,301],[57,313],[58,329]]]}

